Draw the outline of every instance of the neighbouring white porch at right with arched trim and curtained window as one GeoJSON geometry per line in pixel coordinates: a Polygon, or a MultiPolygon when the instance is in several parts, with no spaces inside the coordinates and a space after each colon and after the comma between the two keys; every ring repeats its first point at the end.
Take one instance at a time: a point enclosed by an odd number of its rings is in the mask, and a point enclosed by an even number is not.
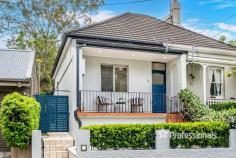
{"type": "Polygon", "coordinates": [[[187,88],[194,91],[206,105],[235,101],[236,77],[225,74],[234,65],[190,62],[186,66],[187,88]]]}

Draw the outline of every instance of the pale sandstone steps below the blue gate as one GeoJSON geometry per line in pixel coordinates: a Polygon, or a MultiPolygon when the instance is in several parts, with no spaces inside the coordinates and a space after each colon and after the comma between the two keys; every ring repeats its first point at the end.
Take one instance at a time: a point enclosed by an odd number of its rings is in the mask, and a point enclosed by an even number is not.
{"type": "Polygon", "coordinates": [[[42,140],[44,158],[69,158],[68,148],[74,141],[68,133],[48,133],[42,140]]]}

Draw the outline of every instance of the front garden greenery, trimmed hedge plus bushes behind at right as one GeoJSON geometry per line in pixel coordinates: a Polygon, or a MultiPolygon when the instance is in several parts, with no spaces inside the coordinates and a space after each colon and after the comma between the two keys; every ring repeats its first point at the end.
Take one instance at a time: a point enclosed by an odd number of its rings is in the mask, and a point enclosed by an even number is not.
{"type": "Polygon", "coordinates": [[[98,150],[153,149],[155,130],[161,129],[171,132],[170,146],[174,149],[227,147],[229,129],[236,124],[236,103],[214,104],[208,108],[188,89],[182,90],[178,95],[184,105],[183,114],[188,123],[95,125],[82,129],[90,130],[91,145],[98,150]],[[209,136],[211,134],[214,136],[209,136]],[[209,137],[205,137],[207,135],[209,137]]]}

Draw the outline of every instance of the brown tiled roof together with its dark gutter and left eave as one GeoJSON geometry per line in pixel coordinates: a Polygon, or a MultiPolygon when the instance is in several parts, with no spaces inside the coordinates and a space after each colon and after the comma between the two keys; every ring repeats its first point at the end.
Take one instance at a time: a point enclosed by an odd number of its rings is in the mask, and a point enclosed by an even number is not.
{"type": "Polygon", "coordinates": [[[54,62],[52,76],[68,37],[76,39],[77,44],[151,50],[156,53],[187,53],[184,50],[168,49],[164,43],[236,51],[236,47],[154,17],[124,13],[65,34],[54,62]]]}

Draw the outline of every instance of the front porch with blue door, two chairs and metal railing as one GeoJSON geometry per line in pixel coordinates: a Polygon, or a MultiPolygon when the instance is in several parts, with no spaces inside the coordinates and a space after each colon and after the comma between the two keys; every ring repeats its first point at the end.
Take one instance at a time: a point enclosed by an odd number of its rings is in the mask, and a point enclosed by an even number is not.
{"type": "Polygon", "coordinates": [[[163,117],[170,98],[186,87],[184,54],[91,47],[81,54],[80,117],[163,117]]]}

